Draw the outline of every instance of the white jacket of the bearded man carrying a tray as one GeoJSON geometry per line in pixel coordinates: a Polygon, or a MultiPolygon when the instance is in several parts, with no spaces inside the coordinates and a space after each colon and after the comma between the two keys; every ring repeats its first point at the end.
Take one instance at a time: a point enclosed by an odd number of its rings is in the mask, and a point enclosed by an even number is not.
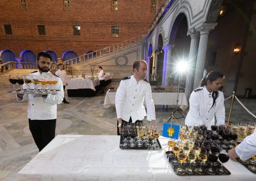
{"type": "MultiPolygon", "coordinates": [[[[52,75],[51,72],[45,74],[52,75]]],[[[31,75],[40,75],[40,73],[31,73],[31,75]]],[[[19,102],[28,99],[28,119],[49,120],[57,118],[57,105],[60,104],[64,98],[63,84],[61,79],[59,77],[57,78],[58,82],[55,85],[55,89],[61,91],[56,92],[56,94],[48,94],[47,98],[43,98],[42,95],[36,94],[24,94],[23,99],[17,97],[17,101],[19,102]]],[[[26,85],[24,85],[24,87],[25,86],[26,85]]]]}

